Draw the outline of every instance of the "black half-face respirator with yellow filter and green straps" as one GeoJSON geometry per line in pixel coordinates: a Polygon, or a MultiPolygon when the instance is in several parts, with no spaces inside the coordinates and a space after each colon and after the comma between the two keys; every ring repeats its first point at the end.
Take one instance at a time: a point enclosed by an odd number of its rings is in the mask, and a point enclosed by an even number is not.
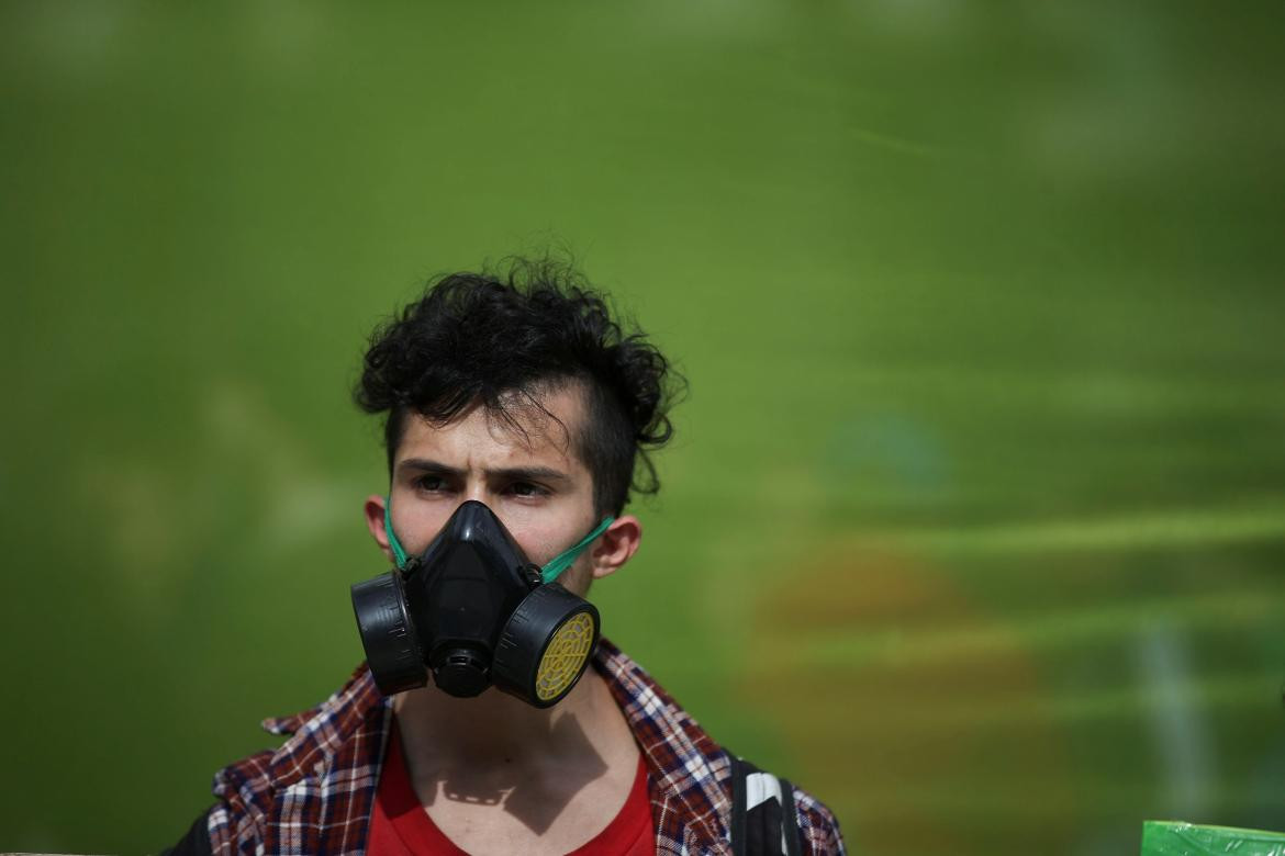
{"type": "Polygon", "coordinates": [[[384,696],[428,684],[468,698],[488,685],[550,707],[585,674],[598,643],[589,601],[554,580],[612,524],[607,517],[544,569],[500,518],[468,501],[418,557],[407,558],[384,503],[397,569],[352,586],[361,644],[384,696]]]}

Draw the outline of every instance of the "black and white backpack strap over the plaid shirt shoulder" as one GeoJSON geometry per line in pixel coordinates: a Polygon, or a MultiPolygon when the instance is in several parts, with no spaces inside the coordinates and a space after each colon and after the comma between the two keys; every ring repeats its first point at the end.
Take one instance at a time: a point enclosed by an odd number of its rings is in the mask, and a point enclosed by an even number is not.
{"type": "Polygon", "coordinates": [[[729,757],[734,856],[799,856],[794,785],[744,758],[729,757]]]}

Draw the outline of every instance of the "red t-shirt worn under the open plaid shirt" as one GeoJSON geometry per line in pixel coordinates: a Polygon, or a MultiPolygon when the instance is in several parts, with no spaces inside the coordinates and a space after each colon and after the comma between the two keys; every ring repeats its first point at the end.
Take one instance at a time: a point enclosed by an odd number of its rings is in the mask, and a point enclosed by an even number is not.
{"type": "MultiPolygon", "coordinates": [[[[655,852],[655,832],[651,825],[651,803],[648,798],[646,765],[639,756],[639,769],[634,787],[619,814],[607,829],[567,856],[646,856],[655,852]]],[[[437,828],[433,819],[419,805],[411,787],[406,762],[402,760],[401,735],[393,720],[384,751],[384,769],[379,775],[379,791],[370,814],[366,839],[368,856],[468,856],[455,842],[437,828]]]]}

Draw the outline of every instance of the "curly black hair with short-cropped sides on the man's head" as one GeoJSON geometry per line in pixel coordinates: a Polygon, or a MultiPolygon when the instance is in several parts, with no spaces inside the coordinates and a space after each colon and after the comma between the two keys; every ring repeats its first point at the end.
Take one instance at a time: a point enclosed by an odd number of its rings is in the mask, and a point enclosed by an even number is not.
{"type": "Polygon", "coordinates": [[[429,282],[371,335],[353,399],[388,413],[391,477],[409,413],[445,425],[479,402],[522,430],[513,409],[550,416],[542,393],[568,384],[585,389],[573,444],[594,477],[595,513],[619,513],[631,489],[655,493],[648,453],[673,435],[668,411],[685,381],[641,331],[612,320],[604,296],[568,263],[513,259],[500,275],[429,282]]]}

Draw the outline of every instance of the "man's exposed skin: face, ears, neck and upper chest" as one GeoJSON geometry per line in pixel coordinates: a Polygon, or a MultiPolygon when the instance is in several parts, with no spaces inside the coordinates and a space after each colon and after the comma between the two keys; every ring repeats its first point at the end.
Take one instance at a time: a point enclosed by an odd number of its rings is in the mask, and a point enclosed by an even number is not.
{"type": "MultiPolygon", "coordinates": [[[[541,397],[514,431],[473,407],[446,425],[411,417],[393,459],[392,525],[407,554],[421,552],[459,504],[486,503],[531,561],[544,565],[592,530],[592,475],[571,439],[585,416],[577,386],[541,397]]],[[[365,501],[366,526],[389,562],[384,498],[365,501]]],[[[559,581],[585,595],[592,580],[637,551],[641,525],[617,518],[559,581]]],[[[470,853],[565,853],[601,832],[625,805],[639,747],[594,670],[551,708],[487,689],[455,698],[429,684],[393,710],[424,810],[470,853]]]]}

